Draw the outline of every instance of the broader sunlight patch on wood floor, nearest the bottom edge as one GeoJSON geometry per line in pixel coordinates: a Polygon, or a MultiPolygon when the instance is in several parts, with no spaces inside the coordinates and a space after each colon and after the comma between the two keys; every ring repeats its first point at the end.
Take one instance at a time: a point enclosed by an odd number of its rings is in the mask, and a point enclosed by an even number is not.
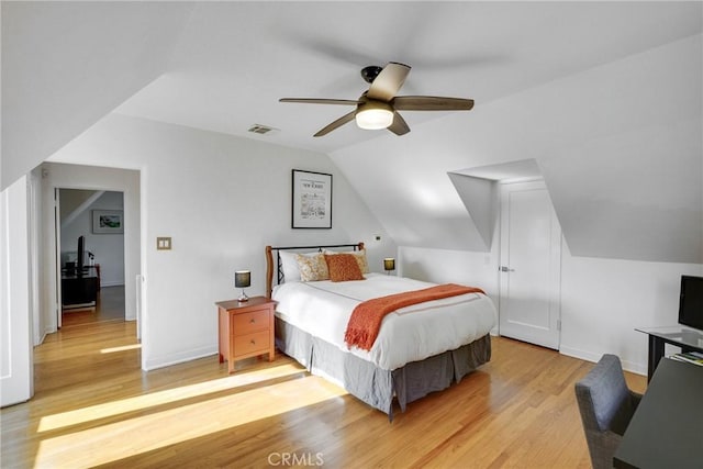
{"type": "Polygon", "coordinates": [[[304,383],[284,381],[46,438],[40,443],[35,467],[93,467],[346,394],[319,377],[303,380],[304,383]]]}

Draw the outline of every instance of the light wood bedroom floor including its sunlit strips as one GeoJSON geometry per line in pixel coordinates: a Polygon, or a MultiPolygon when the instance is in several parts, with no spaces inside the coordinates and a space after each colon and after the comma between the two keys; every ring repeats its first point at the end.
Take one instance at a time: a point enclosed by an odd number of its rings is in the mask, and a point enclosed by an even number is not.
{"type": "Polygon", "coordinates": [[[393,423],[283,355],[141,371],[122,321],[64,327],[34,358],[34,398],[1,411],[3,468],[590,467],[573,383],[593,365],[506,338],[393,423]]]}

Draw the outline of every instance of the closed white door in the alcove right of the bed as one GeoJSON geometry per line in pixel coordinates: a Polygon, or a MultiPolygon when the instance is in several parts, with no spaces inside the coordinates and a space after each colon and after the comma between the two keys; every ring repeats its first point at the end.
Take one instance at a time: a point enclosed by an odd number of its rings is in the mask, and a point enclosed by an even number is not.
{"type": "Polygon", "coordinates": [[[501,185],[499,333],[559,348],[561,228],[544,181],[501,185]]]}

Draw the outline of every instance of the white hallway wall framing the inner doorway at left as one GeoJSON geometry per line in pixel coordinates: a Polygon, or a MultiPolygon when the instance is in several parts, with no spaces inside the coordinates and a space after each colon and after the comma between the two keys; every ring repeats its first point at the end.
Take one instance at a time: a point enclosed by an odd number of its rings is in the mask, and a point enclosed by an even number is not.
{"type": "Polygon", "coordinates": [[[124,206],[124,299],[125,319],[136,320],[136,276],[141,269],[141,188],[140,172],[135,170],[93,166],[42,164],[42,246],[40,270],[41,321],[35,324],[35,344],[43,334],[57,328],[56,304],[56,239],[54,236],[54,190],[91,189],[123,193],[124,206]],[[38,336],[37,336],[38,335],[38,336]]]}

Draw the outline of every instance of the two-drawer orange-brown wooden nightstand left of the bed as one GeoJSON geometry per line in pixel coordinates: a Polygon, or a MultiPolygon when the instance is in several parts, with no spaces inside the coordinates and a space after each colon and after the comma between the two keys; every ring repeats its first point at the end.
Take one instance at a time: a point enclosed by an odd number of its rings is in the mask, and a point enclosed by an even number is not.
{"type": "Polygon", "coordinates": [[[220,362],[227,360],[228,372],[234,362],[243,358],[268,354],[274,361],[274,311],[276,301],[266,297],[249,298],[249,301],[219,301],[220,362]]]}

